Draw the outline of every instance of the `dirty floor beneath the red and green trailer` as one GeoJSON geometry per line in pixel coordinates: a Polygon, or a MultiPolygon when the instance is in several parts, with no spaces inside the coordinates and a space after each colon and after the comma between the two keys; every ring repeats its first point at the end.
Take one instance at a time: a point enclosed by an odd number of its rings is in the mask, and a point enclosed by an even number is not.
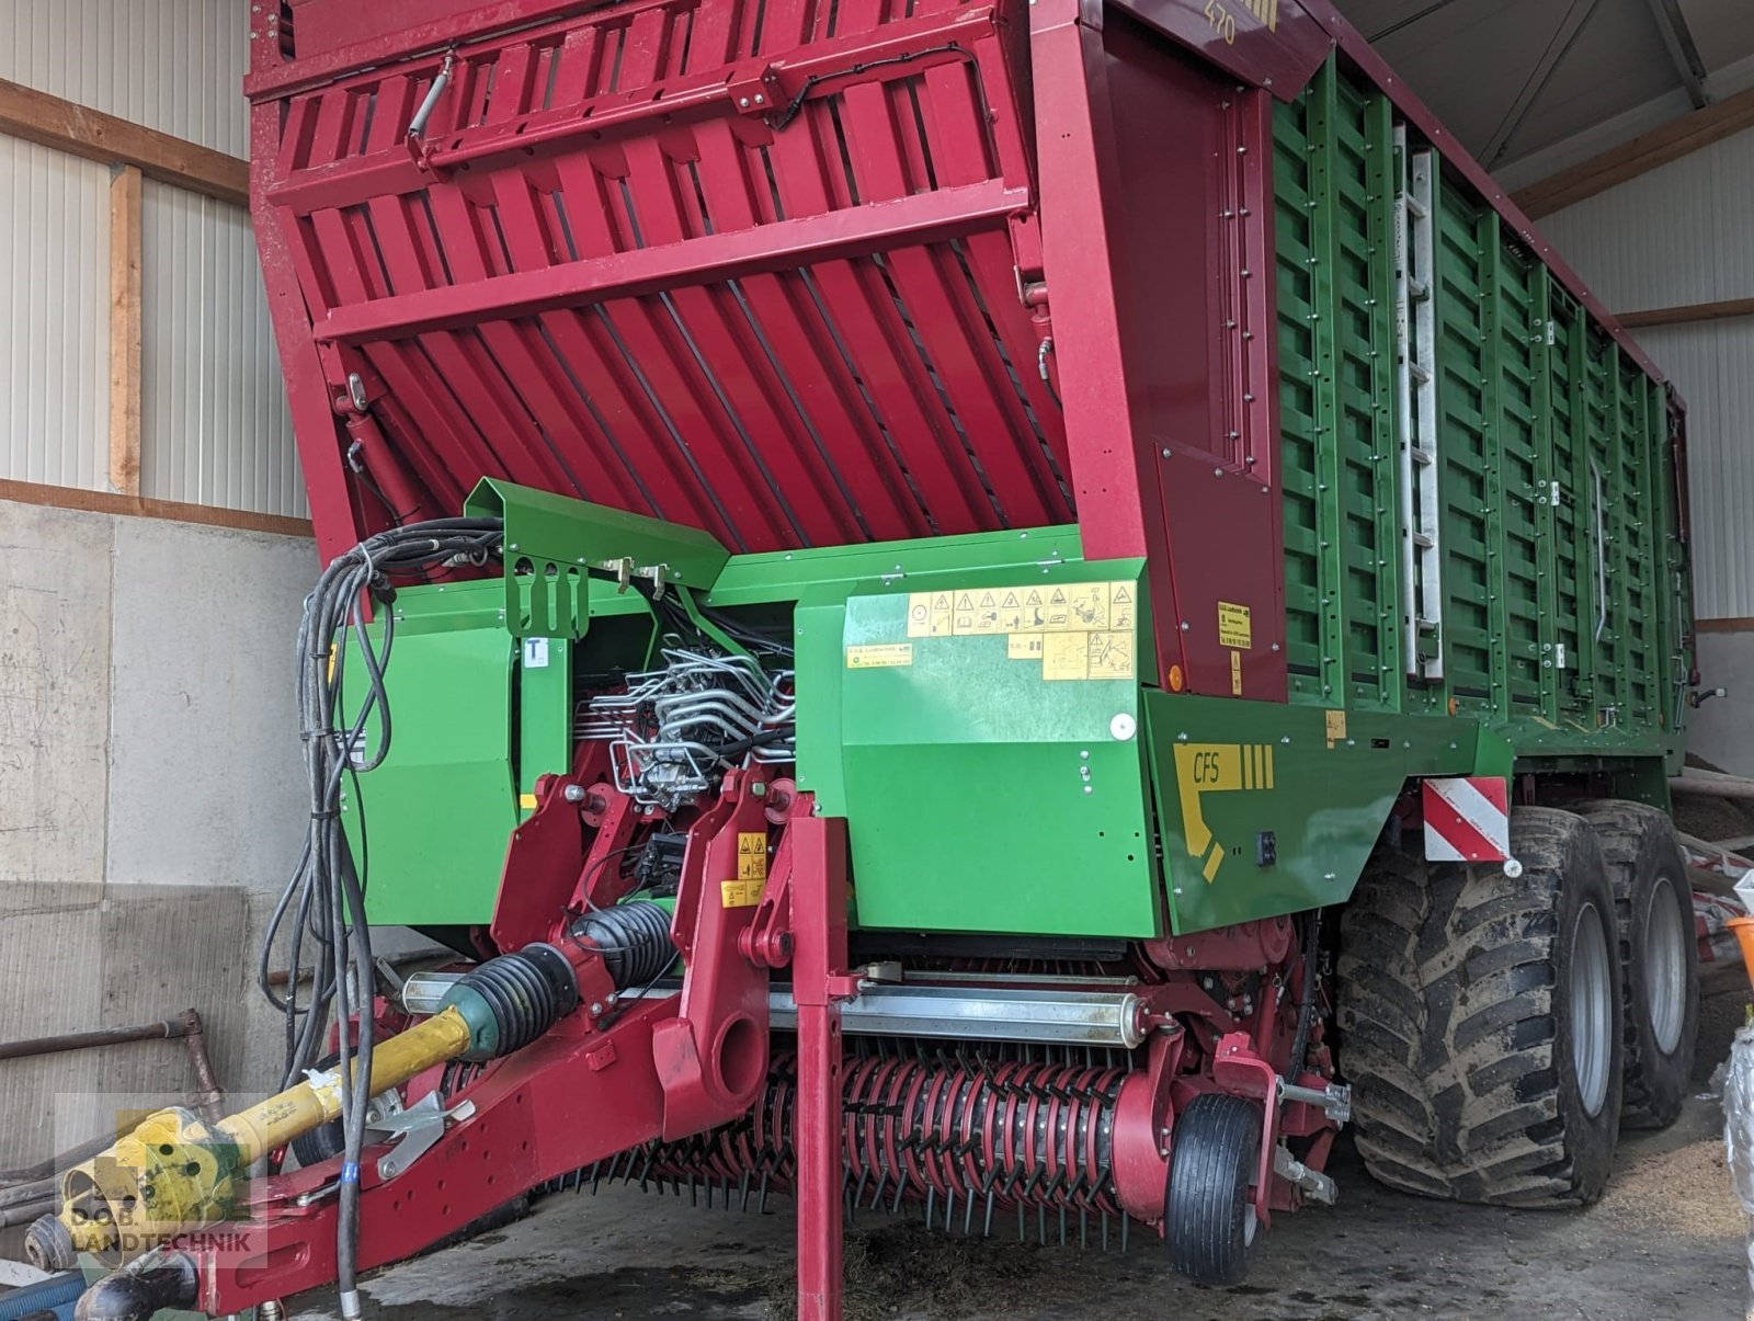
{"type": "MultiPolygon", "coordinates": [[[[1728,1054],[1749,998],[1740,975],[1707,981],[1698,1089],[1728,1054]]],[[[1377,1188],[1351,1149],[1330,1172],[1340,1205],[1282,1217],[1247,1284],[1179,1281],[1144,1235],[1128,1253],[930,1233],[861,1214],[847,1237],[847,1314],[879,1317],[1743,1316],[1745,1221],[1722,1161],[1722,1116],[1687,1103],[1666,1133],[1621,1139],[1607,1196],[1587,1212],[1510,1212],[1377,1188]]],[[[391,1267],[363,1291],[379,1321],[791,1316],[791,1209],[691,1209],[617,1188],[563,1193],[467,1244],[391,1267]]],[[[291,1300],[330,1321],[333,1295],[291,1300]]]]}

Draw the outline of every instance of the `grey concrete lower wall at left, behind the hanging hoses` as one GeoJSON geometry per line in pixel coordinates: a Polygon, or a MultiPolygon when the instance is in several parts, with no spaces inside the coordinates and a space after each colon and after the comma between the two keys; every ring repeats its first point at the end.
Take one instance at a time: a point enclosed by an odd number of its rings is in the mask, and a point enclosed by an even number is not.
{"type": "MultiPolygon", "coordinates": [[[[193,1005],[223,1086],[277,1082],[253,982],[305,823],[316,570],[302,537],[0,502],[0,1040],[193,1005]]],[[[0,1063],[0,1167],[189,1088],[179,1042],[0,1063]]]]}

